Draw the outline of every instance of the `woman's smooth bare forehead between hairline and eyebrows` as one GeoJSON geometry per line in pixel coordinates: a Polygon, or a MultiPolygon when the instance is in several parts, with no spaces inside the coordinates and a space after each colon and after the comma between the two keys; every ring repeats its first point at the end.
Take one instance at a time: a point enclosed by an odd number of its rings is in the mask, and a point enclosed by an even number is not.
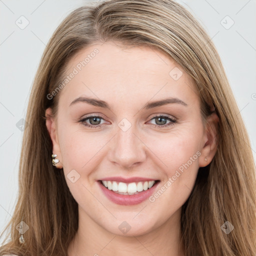
{"type": "Polygon", "coordinates": [[[60,96],[65,102],[80,94],[122,102],[127,98],[148,101],[166,94],[198,101],[192,78],[155,47],[123,46],[111,41],[93,44],[69,60],[65,76],[69,78],[60,96]]]}

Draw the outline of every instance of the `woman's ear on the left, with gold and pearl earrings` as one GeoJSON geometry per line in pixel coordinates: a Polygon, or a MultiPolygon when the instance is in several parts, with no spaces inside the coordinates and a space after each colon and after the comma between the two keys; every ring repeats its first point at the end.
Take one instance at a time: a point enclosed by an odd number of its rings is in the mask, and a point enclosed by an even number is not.
{"type": "Polygon", "coordinates": [[[46,127],[49,132],[51,141],[52,141],[52,154],[56,154],[55,159],[59,159],[59,162],[54,165],[57,168],[62,168],[62,157],[61,157],[61,152],[60,152],[60,147],[58,143],[58,137],[57,137],[57,132],[56,132],[56,121],[52,117],[52,111],[51,108],[48,107],[45,110],[45,117],[46,117],[46,127]]]}

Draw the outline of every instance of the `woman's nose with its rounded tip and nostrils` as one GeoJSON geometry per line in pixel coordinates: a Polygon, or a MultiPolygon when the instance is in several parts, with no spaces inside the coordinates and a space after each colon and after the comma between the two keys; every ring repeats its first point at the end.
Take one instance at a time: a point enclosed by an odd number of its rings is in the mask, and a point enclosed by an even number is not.
{"type": "Polygon", "coordinates": [[[136,133],[134,125],[126,131],[117,127],[117,134],[111,139],[108,152],[108,159],[111,162],[129,169],[145,160],[146,146],[136,133]]]}

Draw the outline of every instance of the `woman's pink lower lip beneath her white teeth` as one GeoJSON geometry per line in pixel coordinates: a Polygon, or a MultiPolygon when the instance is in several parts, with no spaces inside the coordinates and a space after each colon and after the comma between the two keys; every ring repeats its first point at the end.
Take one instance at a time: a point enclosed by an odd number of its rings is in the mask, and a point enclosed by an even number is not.
{"type": "Polygon", "coordinates": [[[157,181],[152,187],[147,190],[143,190],[137,194],[117,194],[113,190],[106,188],[101,181],[97,181],[100,189],[102,189],[105,196],[114,203],[121,205],[134,205],[146,200],[156,189],[159,181],[157,181]]]}

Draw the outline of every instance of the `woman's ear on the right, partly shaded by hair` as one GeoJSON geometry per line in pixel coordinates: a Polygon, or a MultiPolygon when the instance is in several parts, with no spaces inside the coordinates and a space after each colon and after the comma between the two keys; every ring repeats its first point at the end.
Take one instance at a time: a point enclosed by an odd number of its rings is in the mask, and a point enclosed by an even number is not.
{"type": "Polygon", "coordinates": [[[215,112],[206,119],[203,147],[199,156],[199,167],[208,165],[217,151],[217,123],[219,118],[215,112]]]}

